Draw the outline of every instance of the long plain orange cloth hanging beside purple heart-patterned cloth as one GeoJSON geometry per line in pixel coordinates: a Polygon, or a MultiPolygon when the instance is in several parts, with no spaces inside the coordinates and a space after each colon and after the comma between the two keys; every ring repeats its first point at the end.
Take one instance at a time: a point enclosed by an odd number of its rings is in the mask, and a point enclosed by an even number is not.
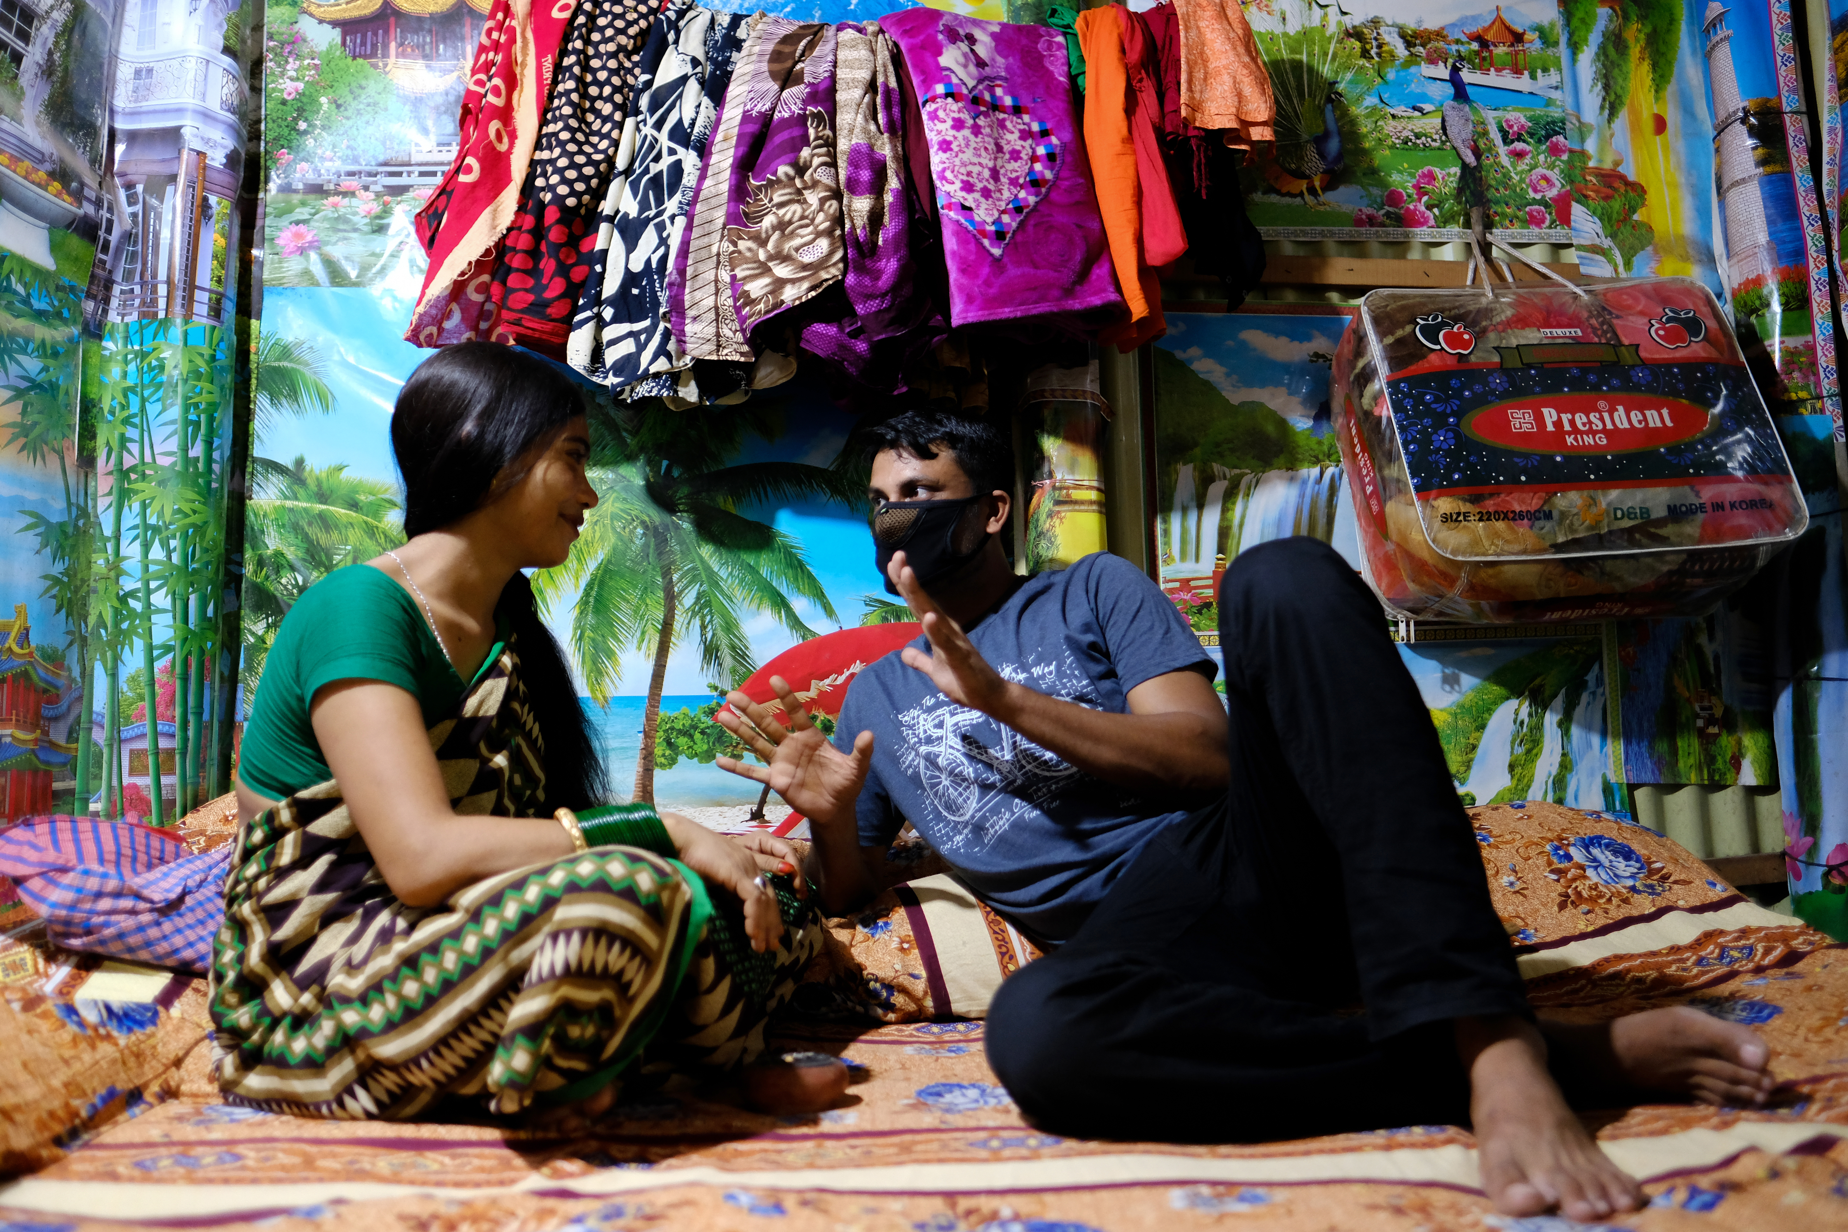
{"type": "MultiPolygon", "coordinates": [[[[1116,286],[1129,305],[1129,318],[1101,329],[1098,342],[1129,353],[1168,332],[1168,323],[1161,314],[1161,281],[1142,259],[1142,192],[1137,144],[1129,137],[1129,65],[1114,6],[1077,15],[1077,44],[1085,54],[1085,151],[1090,155],[1090,179],[1111,244],[1116,286]]],[[[1172,199],[1170,194],[1170,205],[1172,199]]]]}

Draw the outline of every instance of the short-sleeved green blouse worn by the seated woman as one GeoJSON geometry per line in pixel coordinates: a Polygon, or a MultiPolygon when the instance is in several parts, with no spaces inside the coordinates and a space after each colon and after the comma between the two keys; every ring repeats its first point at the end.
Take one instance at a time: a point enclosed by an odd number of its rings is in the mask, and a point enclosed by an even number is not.
{"type": "MultiPolygon", "coordinates": [[[[497,656],[499,646],[482,667],[497,656]]],[[[309,706],[336,680],[383,680],[405,689],[418,698],[425,728],[451,717],[464,689],[403,586],[371,565],[334,569],[288,610],[264,658],[238,750],[237,772],[251,791],[286,800],[333,778],[309,706]]]]}

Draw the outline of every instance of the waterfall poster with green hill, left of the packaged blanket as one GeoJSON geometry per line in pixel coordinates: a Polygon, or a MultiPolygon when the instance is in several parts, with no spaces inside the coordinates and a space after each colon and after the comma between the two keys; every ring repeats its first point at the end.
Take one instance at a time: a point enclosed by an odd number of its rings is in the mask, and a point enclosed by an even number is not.
{"type": "Polygon", "coordinates": [[[1199,632],[1247,547],[1307,534],[1358,560],[1329,425],[1336,312],[1173,312],[1151,347],[1161,584],[1199,632]]]}

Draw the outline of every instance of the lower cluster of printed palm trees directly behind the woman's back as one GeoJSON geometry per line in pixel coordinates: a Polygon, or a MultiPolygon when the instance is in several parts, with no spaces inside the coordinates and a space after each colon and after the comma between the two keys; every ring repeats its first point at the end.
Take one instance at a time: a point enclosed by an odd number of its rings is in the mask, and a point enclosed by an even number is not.
{"type": "MultiPolygon", "coordinates": [[[[261,393],[259,393],[261,397],[261,393]]],[[[405,541],[397,491],[346,465],[251,458],[244,506],[244,689],[253,693],[283,617],[334,569],[405,541]]]]}

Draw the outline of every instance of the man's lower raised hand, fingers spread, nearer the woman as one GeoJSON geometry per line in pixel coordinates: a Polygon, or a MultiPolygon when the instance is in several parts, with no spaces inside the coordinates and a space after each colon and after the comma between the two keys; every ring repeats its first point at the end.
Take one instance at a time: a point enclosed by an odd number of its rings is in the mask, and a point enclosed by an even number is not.
{"type": "Polygon", "coordinates": [[[854,803],[872,763],[872,733],[861,731],[854,752],[843,754],[809,722],[787,680],[771,676],[771,689],[784,704],[787,726],[737,691],[724,698],[732,709],[717,715],[719,726],[743,741],[765,765],[719,757],[719,768],[754,783],[769,783],[771,791],[815,826],[854,824],[854,803]]]}

